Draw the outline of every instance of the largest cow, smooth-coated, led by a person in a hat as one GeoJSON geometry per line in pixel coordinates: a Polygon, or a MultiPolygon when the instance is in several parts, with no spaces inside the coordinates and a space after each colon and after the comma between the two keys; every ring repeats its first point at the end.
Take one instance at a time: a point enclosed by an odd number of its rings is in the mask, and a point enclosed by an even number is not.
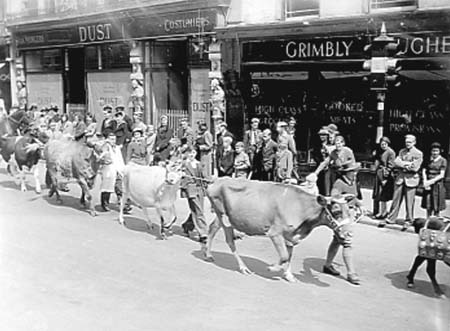
{"type": "Polygon", "coordinates": [[[318,226],[337,229],[352,221],[348,201],[352,195],[325,198],[305,192],[300,187],[273,182],[260,182],[230,177],[218,178],[207,189],[216,214],[211,223],[206,248],[206,261],[213,261],[211,247],[220,228],[243,274],[251,274],[236,251],[233,229],[249,236],[268,236],[280,257],[271,271],[283,271],[289,282],[297,279],[291,272],[293,248],[318,226]]]}

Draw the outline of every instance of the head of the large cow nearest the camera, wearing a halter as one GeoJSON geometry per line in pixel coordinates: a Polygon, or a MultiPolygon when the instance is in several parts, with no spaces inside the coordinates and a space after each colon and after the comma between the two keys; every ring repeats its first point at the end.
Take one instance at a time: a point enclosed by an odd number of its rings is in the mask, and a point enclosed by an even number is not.
{"type": "Polygon", "coordinates": [[[353,213],[349,202],[353,201],[353,194],[345,194],[338,197],[324,197],[319,195],[317,202],[323,207],[321,223],[335,230],[341,224],[353,222],[353,213]]]}

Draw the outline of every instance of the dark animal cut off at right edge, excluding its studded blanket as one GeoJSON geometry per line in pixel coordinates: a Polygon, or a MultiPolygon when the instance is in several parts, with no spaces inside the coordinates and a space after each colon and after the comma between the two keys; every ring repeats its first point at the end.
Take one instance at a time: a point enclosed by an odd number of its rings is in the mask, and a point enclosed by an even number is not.
{"type": "MultiPolygon", "coordinates": [[[[414,229],[416,233],[420,232],[420,229],[422,229],[425,226],[425,219],[417,219],[414,221],[414,229]]],[[[432,217],[430,218],[428,222],[428,229],[432,230],[444,230],[446,227],[446,223],[444,223],[443,219],[439,217],[432,217]]],[[[429,259],[426,257],[422,257],[420,255],[417,255],[414,259],[414,263],[411,267],[411,270],[409,271],[408,275],[406,276],[408,280],[408,288],[414,288],[414,276],[416,275],[417,269],[420,267],[420,265],[427,261],[427,274],[428,277],[430,277],[431,284],[433,285],[434,292],[437,296],[443,296],[444,292],[442,292],[441,287],[439,286],[437,280],[436,280],[436,260],[435,259],[429,259]]],[[[449,267],[450,264],[445,262],[449,267]]]]}

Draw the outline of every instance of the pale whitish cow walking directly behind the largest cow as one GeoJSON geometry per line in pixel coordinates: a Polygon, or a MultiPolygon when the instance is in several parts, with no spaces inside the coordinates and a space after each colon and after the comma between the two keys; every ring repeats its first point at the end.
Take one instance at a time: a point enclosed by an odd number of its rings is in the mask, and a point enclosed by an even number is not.
{"type": "Polygon", "coordinates": [[[175,201],[180,188],[181,165],[169,162],[163,166],[142,166],[129,163],[125,166],[120,199],[119,223],[125,224],[125,202],[131,199],[145,215],[147,227],[153,227],[148,209],[155,208],[161,221],[161,239],[167,239],[171,226],[176,222],[175,201]]]}

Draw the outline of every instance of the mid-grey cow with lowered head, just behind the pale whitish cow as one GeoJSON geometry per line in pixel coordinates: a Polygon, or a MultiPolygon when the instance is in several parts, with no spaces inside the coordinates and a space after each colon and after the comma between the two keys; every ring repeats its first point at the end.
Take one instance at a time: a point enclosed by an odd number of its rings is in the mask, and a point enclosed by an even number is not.
{"type": "Polygon", "coordinates": [[[44,149],[50,180],[49,198],[56,195],[58,203],[62,203],[58,192],[58,176],[74,178],[81,187],[80,204],[86,207],[91,216],[96,216],[90,190],[95,183],[98,162],[94,145],[71,139],[51,140],[44,149]]]}

